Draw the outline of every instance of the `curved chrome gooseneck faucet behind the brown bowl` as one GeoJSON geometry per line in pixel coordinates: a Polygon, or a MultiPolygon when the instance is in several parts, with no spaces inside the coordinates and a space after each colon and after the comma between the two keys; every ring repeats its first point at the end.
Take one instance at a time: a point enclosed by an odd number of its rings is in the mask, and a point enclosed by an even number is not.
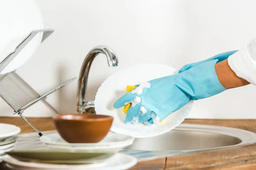
{"type": "Polygon", "coordinates": [[[87,106],[94,105],[92,102],[87,101],[86,90],[87,90],[87,82],[88,82],[90,66],[93,62],[93,59],[95,59],[95,57],[100,53],[106,55],[108,59],[109,67],[118,66],[118,58],[116,56],[116,53],[108,46],[99,45],[89,51],[89,53],[84,59],[84,62],[79,74],[78,87],[77,87],[77,110],[76,110],[78,113],[85,113],[84,109],[87,106]]]}

